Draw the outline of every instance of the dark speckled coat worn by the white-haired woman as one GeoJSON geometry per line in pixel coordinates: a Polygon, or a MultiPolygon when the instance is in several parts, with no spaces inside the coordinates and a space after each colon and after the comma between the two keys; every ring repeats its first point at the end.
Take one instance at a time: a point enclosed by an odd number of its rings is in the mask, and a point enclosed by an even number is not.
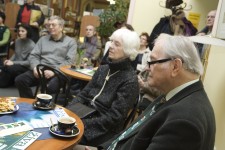
{"type": "MultiPolygon", "coordinates": [[[[84,123],[84,137],[90,143],[92,140],[106,141],[106,135],[118,134],[123,125],[129,110],[133,107],[138,96],[138,80],[129,59],[125,61],[102,65],[94,74],[92,80],[79,93],[77,99],[90,105],[91,100],[101,90],[106,75],[115,73],[106,82],[106,85],[96,99],[97,115],[92,118],[82,119],[84,123]]],[[[95,142],[96,143],[96,142],[95,142]]]]}

